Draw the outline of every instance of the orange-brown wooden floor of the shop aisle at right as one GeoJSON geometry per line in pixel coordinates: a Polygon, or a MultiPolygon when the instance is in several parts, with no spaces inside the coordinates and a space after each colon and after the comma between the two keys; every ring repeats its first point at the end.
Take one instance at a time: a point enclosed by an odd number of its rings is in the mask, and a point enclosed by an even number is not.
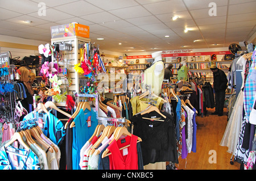
{"type": "Polygon", "coordinates": [[[224,110],[224,116],[211,115],[214,109],[208,109],[205,117],[196,116],[197,134],[196,134],[196,153],[189,153],[186,159],[179,158],[178,169],[183,170],[239,170],[240,164],[234,162],[230,164],[232,154],[228,153],[228,148],[220,146],[222,136],[226,129],[227,116],[224,110]],[[212,152],[216,151],[216,163],[209,163],[213,159],[212,152]]]}

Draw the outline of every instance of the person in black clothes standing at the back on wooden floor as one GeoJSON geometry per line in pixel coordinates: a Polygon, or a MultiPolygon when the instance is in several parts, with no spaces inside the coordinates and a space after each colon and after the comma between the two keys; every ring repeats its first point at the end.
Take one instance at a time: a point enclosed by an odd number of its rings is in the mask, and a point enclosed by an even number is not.
{"type": "Polygon", "coordinates": [[[218,69],[216,65],[210,66],[210,70],[213,72],[213,89],[215,91],[216,104],[213,115],[222,116],[228,79],[226,78],[224,71],[218,69]]]}

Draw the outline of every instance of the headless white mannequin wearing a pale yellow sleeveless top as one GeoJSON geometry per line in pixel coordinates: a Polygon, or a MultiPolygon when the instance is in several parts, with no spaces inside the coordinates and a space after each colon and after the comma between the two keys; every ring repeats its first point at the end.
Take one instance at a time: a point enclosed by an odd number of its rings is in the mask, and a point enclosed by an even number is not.
{"type": "MultiPolygon", "coordinates": [[[[143,85],[151,87],[154,94],[159,95],[162,89],[164,78],[164,64],[162,61],[162,51],[154,52],[151,54],[154,62],[150,68],[144,71],[143,85]]],[[[144,87],[146,89],[146,87],[144,87]]]]}

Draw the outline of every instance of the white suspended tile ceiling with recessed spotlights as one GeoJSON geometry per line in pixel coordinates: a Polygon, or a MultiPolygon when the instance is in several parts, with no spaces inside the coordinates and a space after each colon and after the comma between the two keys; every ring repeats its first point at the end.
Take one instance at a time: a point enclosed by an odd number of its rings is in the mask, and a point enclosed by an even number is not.
{"type": "Polygon", "coordinates": [[[92,43],[114,52],[228,47],[255,39],[256,0],[0,0],[0,35],[50,42],[51,26],[71,22],[89,26],[92,43]]]}

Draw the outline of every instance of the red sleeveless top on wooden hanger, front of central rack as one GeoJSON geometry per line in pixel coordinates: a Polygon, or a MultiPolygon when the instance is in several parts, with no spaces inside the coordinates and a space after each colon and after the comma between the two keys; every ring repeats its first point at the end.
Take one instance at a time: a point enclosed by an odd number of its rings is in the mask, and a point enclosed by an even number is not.
{"type": "Polygon", "coordinates": [[[131,134],[123,139],[113,142],[108,146],[110,170],[138,170],[138,153],[137,153],[138,137],[131,134]],[[129,147],[119,150],[123,146],[129,147]]]}

